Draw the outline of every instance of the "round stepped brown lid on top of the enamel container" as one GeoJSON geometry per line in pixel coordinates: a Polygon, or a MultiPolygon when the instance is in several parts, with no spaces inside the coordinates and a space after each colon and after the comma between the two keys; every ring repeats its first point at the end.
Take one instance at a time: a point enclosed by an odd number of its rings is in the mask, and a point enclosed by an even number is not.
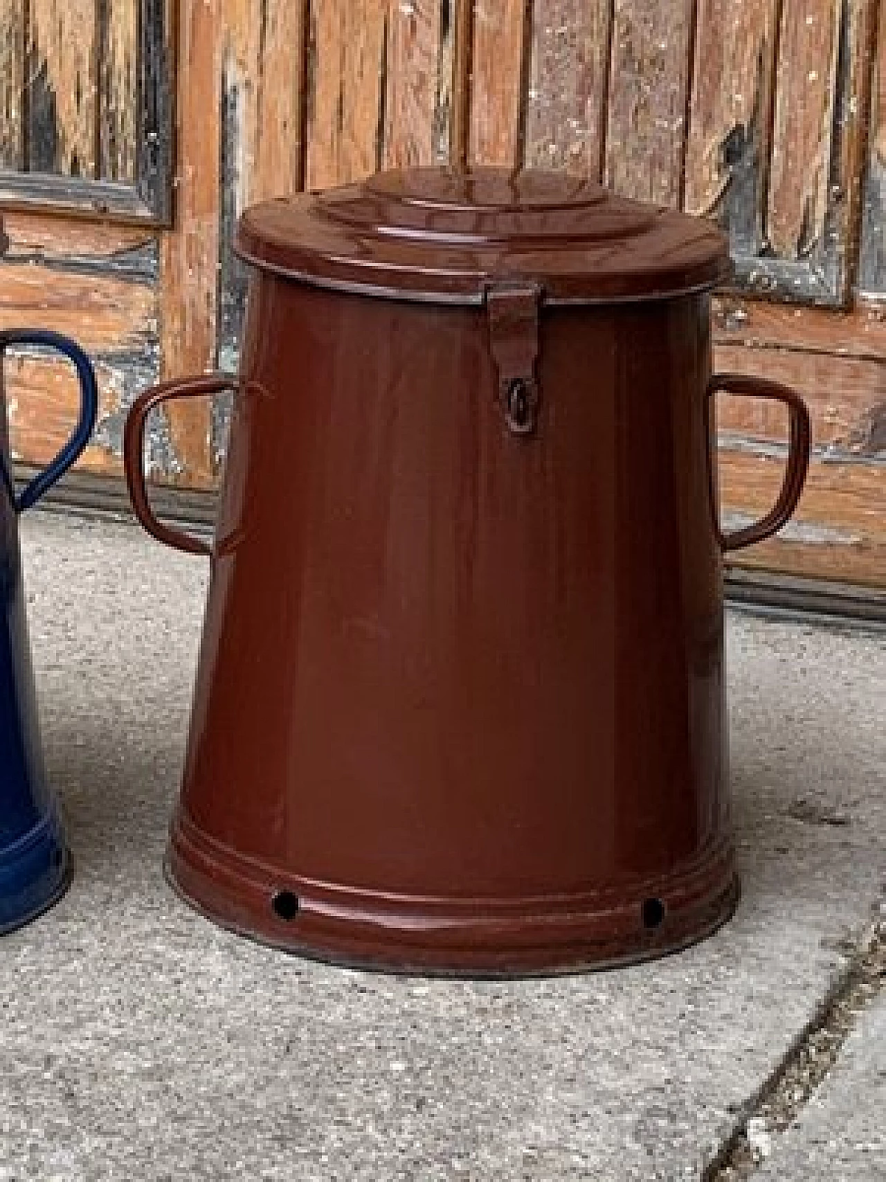
{"type": "Polygon", "coordinates": [[[563,173],[486,165],[265,201],[241,216],[234,248],[305,282],[456,304],[516,280],[546,303],[657,299],[731,273],[727,238],[703,219],[563,173]]]}

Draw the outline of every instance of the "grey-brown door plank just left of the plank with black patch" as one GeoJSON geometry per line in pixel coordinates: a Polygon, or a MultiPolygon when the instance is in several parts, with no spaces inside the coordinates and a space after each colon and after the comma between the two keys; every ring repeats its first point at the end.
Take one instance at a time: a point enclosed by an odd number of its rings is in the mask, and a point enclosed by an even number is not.
{"type": "Polygon", "coordinates": [[[680,203],[692,0],[615,0],[606,181],[617,193],[680,203]]]}

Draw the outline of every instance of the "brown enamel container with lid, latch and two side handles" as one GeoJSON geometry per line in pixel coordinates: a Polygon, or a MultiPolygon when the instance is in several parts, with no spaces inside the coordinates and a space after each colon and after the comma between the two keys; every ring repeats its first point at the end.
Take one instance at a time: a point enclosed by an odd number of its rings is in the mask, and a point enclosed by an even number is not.
{"type": "Polygon", "coordinates": [[[711,378],[708,222],[553,173],[413,169],[248,209],[236,391],[168,872],[204,914],[397,969],[598,967],[731,914],[722,550],[800,495],[800,398],[711,378]],[[712,394],[778,398],[723,538],[712,394]]]}

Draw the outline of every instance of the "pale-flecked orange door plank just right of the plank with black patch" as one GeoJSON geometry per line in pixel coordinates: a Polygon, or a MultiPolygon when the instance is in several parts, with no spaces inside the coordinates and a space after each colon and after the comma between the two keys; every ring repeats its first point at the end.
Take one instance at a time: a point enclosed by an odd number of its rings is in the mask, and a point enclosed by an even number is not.
{"type": "Polygon", "coordinates": [[[825,232],[842,0],[791,0],[782,12],[767,209],[777,255],[808,255],[825,232]]]}

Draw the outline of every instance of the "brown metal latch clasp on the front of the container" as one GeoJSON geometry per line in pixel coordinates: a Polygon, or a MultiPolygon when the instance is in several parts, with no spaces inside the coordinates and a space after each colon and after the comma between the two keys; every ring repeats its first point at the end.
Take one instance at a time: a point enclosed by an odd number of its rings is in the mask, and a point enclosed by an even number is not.
{"type": "Polygon", "coordinates": [[[538,284],[497,284],[486,296],[489,348],[499,371],[499,402],[514,435],[532,435],[539,422],[541,391],[538,284]]]}

